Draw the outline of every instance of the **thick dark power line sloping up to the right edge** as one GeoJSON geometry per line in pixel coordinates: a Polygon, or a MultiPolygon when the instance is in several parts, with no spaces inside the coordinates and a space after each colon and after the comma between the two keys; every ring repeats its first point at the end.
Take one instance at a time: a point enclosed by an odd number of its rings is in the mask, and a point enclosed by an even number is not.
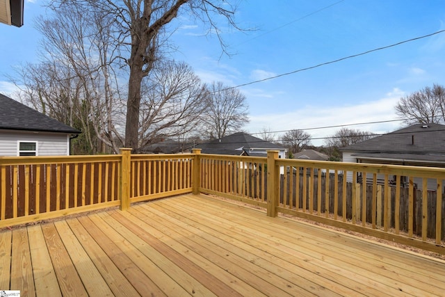
{"type": "Polygon", "coordinates": [[[321,67],[321,66],[325,66],[325,65],[329,65],[329,64],[337,63],[337,62],[340,62],[340,61],[343,61],[343,60],[348,60],[348,59],[350,59],[350,58],[356,58],[356,57],[358,57],[358,56],[363,56],[363,55],[366,55],[366,54],[370,54],[370,53],[372,53],[373,51],[380,51],[380,50],[382,50],[382,49],[389,49],[390,47],[396,47],[396,46],[398,46],[398,45],[403,45],[404,43],[407,43],[407,42],[412,42],[412,41],[415,41],[415,40],[420,40],[420,39],[427,38],[427,37],[430,37],[430,36],[432,36],[432,35],[437,35],[437,34],[439,34],[439,33],[444,33],[444,32],[445,32],[445,30],[436,31],[436,32],[434,32],[434,33],[430,33],[430,34],[427,34],[427,35],[419,36],[419,37],[416,37],[416,38],[411,38],[411,39],[408,39],[408,40],[403,40],[403,41],[401,41],[401,42],[397,42],[397,43],[394,43],[394,44],[392,44],[392,45],[387,45],[387,46],[385,46],[385,47],[378,47],[378,48],[376,48],[376,49],[370,49],[369,51],[363,51],[362,53],[359,53],[359,54],[354,54],[354,55],[351,55],[351,56],[346,56],[346,57],[343,57],[343,58],[339,58],[339,59],[334,60],[334,61],[329,61],[329,62],[325,62],[325,63],[317,64],[317,65],[314,65],[314,66],[310,66],[310,67],[300,68],[300,69],[298,69],[298,70],[293,70],[293,71],[291,71],[291,72],[286,72],[286,73],[278,74],[278,75],[275,75],[275,76],[273,76],[273,77],[267,77],[266,79],[259,79],[259,80],[257,80],[257,81],[250,81],[249,83],[242,83],[242,84],[240,84],[240,85],[238,85],[238,86],[233,86],[233,87],[223,88],[223,89],[221,89],[221,90],[217,90],[217,91],[215,91],[215,92],[213,92],[213,93],[221,92],[221,91],[223,91],[223,90],[231,90],[231,89],[239,88],[239,87],[243,87],[243,86],[249,86],[249,85],[252,85],[252,84],[254,84],[254,83],[261,83],[261,82],[263,82],[263,81],[268,81],[268,80],[270,80],[270,79],[277,79],[278,77],[284,77],[284,76],[287,76],[287,75],[290,75],[290,74],[295,74],[295,73],[298,73],[298,72],[303,72],[303,71],[306,71],[306,70],[311,70],[311,69],[314,69],[314,68],[317,68],[317,67],[321,67]]]}

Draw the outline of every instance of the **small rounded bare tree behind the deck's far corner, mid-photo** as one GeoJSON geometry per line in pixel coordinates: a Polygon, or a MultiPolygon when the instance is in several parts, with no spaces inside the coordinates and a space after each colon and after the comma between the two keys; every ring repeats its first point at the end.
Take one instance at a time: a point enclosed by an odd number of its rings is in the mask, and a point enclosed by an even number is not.
{"type": "Polygon", "coordinates": [[[222,82],[213,82],[204,113],[204,122],[210,138],[221,138],[238,131],[248,120],[248,104],[245,96],[236,88],[222,82]]]}

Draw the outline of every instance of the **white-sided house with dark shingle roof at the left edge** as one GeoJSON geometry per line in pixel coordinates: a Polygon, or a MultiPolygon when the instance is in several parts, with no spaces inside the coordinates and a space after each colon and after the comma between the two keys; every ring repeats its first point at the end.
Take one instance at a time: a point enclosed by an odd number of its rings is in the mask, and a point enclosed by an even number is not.
{"type": "Polygon", "coordinates": [[[81,131],[0,94],[0,156],[70,154],[81,131]]]}

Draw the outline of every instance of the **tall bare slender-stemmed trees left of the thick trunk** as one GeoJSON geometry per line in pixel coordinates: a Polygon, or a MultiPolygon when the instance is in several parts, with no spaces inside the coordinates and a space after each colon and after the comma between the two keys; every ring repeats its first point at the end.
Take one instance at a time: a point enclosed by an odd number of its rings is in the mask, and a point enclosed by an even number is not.
{"type": "MultiPolygon", "coordinates": [[[[28,65],[21,72],[22,81],[29,82],[29,102],[59,120],[69,108],[86,133],[81,137],[86,136],[91,153],[102,151],[97,139],[114,152],[123,143],[119,122],[124,122],[124,105],[115,73],[119,68],[113,62],[113,22],[111,15],[100,15],[94,8],[83,6],[64,5],[54,17],[40,17],[37,29],[44,36],[43,61],[35,67],[28,65]],[[33,71],[28,72],[28,67],[33,71]],[[37,86],[35,90],[33,85],[37,86]],[[54,92],[56,88],[60,92],[54,92]],[[64,98],[71,101],[65,102],[64,98]],[[91,131],[94,132],[90,134],[91,131]]],[[[72,120],[63,122],[72,125],[72,120]]]]}

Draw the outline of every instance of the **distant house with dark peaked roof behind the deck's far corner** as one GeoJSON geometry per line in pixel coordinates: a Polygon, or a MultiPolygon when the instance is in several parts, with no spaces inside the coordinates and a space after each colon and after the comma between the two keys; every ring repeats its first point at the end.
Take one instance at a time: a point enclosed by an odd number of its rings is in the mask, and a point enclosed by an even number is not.
{"type": "Polygon", "coordinates": [[[196,145],[203,154],[229,154],[235,156],[267,156],[268,150],[278,150],[278,156],[286,158],[287,149],[282,145],[264,141],[250,134],[238,132],[196,145]]]}

